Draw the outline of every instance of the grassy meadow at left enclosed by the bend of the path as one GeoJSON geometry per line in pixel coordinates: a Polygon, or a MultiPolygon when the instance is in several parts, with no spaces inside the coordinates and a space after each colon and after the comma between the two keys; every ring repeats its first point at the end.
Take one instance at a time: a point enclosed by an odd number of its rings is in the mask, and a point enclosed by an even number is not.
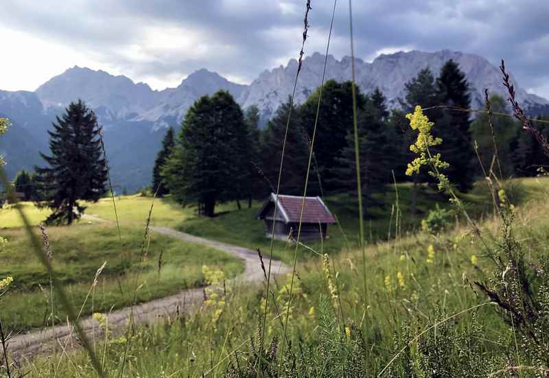
{"type": "MultiPolygon", "coordinates": [[[[87,221],[49,227],[47,233],[57,278],[67,288],[75,307],[82,306],[95,272],[106,263],[93,298],[84,306],[84,315],[130,305],[137,287],[135,300],[140,303],[201,286],[202,265],[220,268],[228,276],[244,270],[242,261],[225,252],[156,233],[150,234],[145,249],[141,250],[143,228],[137,226],[125,226],[121,241],[114,224],[87,221]]],[[[0,234],[8,239],[8,245],[0,252],[0,277],[14,277],[13,290],[2,298],[3,323],[17,330],[51,324],[49,276],[31,252],[24,231],[10,228],[0,234]]],[[[54,298],[55,322],[65,319],[65,312],[54,298]]]]}

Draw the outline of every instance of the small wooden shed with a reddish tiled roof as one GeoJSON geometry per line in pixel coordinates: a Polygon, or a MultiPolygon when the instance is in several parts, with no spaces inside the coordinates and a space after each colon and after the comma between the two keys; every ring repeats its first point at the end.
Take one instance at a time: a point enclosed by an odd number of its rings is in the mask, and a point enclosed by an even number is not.
{"type": "MultiPolygon", "coordinates": [[[[275,239],[286,240],[288,237],[296,239],[302,204],[303,197],[280,194],[277,201],[277,195],[271,193],[257,215],[258,220],[265,222],[267,237],[270,238],[272,235],[274,222],[275,239]],[[274,219],[274,206],[278,206],[277,219],[274,219]]],[[[334,215],[320,197],[305,197],[300,240],[319,240],[320,235],[325,239],[328,234],[328,224],[333,223],[336,223],[334,215]]]]}

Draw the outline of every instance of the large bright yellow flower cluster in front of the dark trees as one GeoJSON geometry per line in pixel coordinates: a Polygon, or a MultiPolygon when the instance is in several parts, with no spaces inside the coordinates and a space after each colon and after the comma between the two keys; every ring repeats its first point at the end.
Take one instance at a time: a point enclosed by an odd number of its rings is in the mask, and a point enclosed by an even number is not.
{"type": "MultiPolygon", "coordinates": [[[[421,106],[416,106],[414,113],[407,114],[406,118],[410,120],[410,127],[412,130],[418,131],[417,140],[410,145],[410,151],[419,155],[419,157],[414,158],[412,163],[408,163],[406,175],[412,176],[414,173],[419,174],[419,169],[422,165],[430,165],[436,168],[449,167],[448,163],[441,161],[441,154],[432,155],[429,153],[429,147],[441,144],[442,139],[432,136],[431,129],[434,126],[434,123],[430,122],[426,115],[423,115],[421,106]]],[[[445,179],[445,176],[440,176],[441,177],[439,178],[441,181],[445,179]]]]}

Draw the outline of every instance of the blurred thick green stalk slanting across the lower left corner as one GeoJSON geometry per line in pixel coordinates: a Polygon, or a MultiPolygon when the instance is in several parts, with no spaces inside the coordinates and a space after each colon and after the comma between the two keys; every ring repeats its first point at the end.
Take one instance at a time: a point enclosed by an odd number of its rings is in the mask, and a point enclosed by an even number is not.
{"type": "Polygon", "coordinates": [[[38,257],[38,260],[40,261],[40,263],[42,263],[44,268],[47,270],[47,273],[49,274],[49,276],[52,277],[52,280],[54,283],[54,290],[56,290],[57,297],[59,298],[63,309],[65,309],[65,311],[67,312],[67,317],[69,318],[69,322],[71,322],[71,324],[74,325],[76,329],[76,334],[78,335],[78,338],[82,343],[82,346],[88,353],[93,368],[95,369],[95,371],[97,371],[97,374],[100,377],[105,377],[104,370],[100,365],[99,361],[97,360],[95,351],[93,351],[93,347],[91,346],[86,336],[86,333],[84,333],[84,330],[80,326],[80,322],[78,320],[78,316],[76,316],[74,307],[71,305],[69,298],[67,297],[67,294],[65,293],[65,290],[62,287],[62,284],[58,282],[54,267],[51,265],[51,261],[49,261],[49,259],[47,259],[47,257],[43,253],[42,246],[40,246],[40,241],[38,237],[35,235],[33,231],[33,227],[30,224],[30,221],[28,220],[27,215],[25,214],[25,211],[23,211],[23,206],[21,206],[21,203],[19,203],[19,200],[17,200],[15,196],[14,188],[11,182],[8,180],[8,177],[5,175],[5,171],[3,167],[1,166],[0,166],[0,182],[2,183],[3,187],[8,191],[8,197],[10,198],[10,200],[15,204],[15,209],[19,213],[19,216],[21,217],[21,221],[23,222],[27,236],[29,237],[30,242],[32,244],[32,250],[34,251],[34,254],[36,255],[36,257],[38,257]]]}

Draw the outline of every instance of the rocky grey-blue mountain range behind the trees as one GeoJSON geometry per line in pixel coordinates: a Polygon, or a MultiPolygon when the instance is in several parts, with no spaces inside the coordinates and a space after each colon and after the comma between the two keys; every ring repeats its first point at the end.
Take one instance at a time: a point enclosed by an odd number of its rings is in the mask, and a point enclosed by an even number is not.
{"type": "MultiPolygon", "coordinates": [[[[404,84],[419,70],[430,67],[437,75],[447,60],[453,59],[467,76],[473,108],[482,108],[484,88],[505,96],[497,67],[482,56],[459,51],[409,51],[382,54],[373,62],[355,58],[355,78],[364,93],[380,88],[391,108],[405,97],[404,84]]],[[[320,85],[325,56],[314,53],[305,58],[296,87],[296,103],[307,99],[320,85]]],[[[327,79],[351,78],[351,58],[327,57],[327,79]]],[[[249,85],[236,84],[215,72],[200,69],[176,88],[154,91],[148,84],[135,83],[124,75],[72,67],[51,78],[36,91],[0,91],[0,116],[12,127],[0,138],[0,154],[8,161],[8,174],[43,164],[38,151],[49,152],[47,130],[56,115],[75,99],[83,99],[97,114],[104,136],[115,189],[129,191],[150,182],[152,164],[167,126],[178,126],[185,112],[202,95],[220,89],[229,91],[242,108],[257,105],[264,125],[278,106],[292,93],[297,61],[263,71],[249,85]]],[[[513,82],[515,82],[513,80],[513,82]]],[[[549,101],[526,93],[515,82],[517,100],[531,115],[549,114],[549,101]]]]}

